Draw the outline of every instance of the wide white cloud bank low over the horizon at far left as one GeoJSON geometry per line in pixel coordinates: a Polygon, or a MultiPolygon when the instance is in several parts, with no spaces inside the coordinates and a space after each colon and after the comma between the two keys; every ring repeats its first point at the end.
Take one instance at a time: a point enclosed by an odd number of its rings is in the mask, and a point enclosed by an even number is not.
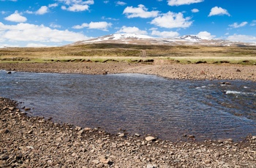
{"type": "Polygon", "coordinates": [[[4,25],[0,22],[1,42],[77,42],[89,39],[83,34],[52,29],[43,25],[18,23],[17,25],[4,25]]]}

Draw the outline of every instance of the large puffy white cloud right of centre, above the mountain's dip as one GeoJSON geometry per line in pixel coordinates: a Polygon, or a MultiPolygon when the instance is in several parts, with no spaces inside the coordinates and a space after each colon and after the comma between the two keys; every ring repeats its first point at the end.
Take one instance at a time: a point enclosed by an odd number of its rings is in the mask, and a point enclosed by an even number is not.
{"type": "Polygon", "coordinates": [[[192,25],[190,18],[184,18],[181,12],[167,12],[162,16],[154,18],[151,24],[163,28],[187,28],[192,25]]]}

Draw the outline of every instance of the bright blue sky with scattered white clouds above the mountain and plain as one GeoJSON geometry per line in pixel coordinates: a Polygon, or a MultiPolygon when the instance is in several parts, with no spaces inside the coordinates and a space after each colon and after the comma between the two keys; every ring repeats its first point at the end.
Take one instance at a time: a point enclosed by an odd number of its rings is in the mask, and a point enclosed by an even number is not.
{"type": "Polygon", "coordinates": [[[0,47],[61,46],[108,34],[256,43],[255,0],[0,0],[0,47]]]}

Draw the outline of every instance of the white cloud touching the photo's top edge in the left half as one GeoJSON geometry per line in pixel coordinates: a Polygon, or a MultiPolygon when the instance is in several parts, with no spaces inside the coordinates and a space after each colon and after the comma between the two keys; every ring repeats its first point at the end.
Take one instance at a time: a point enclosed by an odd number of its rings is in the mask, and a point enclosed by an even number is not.
{"type": "Polygon", "coordinates": [[[65,5],[61,6],[61,9],[68,10],[71,12],[80,12],[89,9],[89,5],[94,4],[93,0],[58,0],[60,3],[65,5]]]}

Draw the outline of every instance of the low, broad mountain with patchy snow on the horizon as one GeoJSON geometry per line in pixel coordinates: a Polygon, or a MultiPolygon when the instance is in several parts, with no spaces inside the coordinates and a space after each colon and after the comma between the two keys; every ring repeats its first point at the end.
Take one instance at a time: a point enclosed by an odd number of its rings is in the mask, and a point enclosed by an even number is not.
{"type": "Polygon", "coordinates": [[[143,34],[110,34],[103,37],[88,39],[72,43],[71,45],[85,45],[92,43],[119,43],[131,45],[250,45],[245,42],[230,42],[221,39],[201,39],[196,35],[185,35],[182,37],[174,38],[157,38],[149,37],[143,34]]]}

